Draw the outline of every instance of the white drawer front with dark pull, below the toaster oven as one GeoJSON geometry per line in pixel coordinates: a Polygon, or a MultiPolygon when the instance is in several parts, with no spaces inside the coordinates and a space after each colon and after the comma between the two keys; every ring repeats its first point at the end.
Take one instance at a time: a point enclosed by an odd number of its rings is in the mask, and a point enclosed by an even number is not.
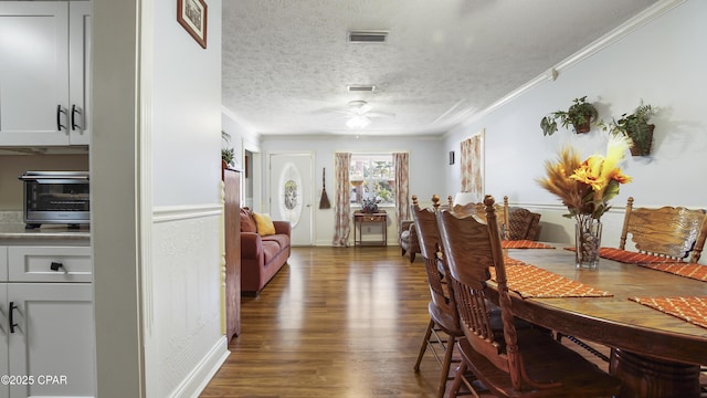
{"type": "Polygon", "coordinates": [[[88,247],[8,247],[9,282],[92,282],[88,247]]]}

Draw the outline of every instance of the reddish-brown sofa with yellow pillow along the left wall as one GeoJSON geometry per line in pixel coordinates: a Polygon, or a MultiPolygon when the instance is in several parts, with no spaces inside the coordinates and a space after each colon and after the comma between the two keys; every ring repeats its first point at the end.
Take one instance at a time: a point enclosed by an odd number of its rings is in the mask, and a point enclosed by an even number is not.
{"type": "Polygon", "coordinates": [[[261,235],[249,209],[241,209],[241,293],[256,296],[287,263],[289,258],[288,221],[273,221],[275,234],[261,235]]]}

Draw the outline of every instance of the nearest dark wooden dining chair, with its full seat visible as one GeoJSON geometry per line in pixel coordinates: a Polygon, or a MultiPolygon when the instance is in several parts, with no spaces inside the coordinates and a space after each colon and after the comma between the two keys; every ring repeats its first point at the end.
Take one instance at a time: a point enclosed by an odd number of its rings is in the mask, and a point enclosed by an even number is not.
{"type": "Polygon", "coordinates": [[[444,210],[437,213],[442,248],[466,337],[457,342],[463,365],[450,394],[462,383],[461,371],[468,368],[499,397],[618,395],[619,379],[558,343],[551,333],[536,327],[515,327],[493,197],[487,196],[484,203],[486,222],[472,216],[458,218],[444,210]],[[488,286],[492,266],[496,273],[503,332],[492,328],[485,311],[486,301],[492,298],[488,286]]]}

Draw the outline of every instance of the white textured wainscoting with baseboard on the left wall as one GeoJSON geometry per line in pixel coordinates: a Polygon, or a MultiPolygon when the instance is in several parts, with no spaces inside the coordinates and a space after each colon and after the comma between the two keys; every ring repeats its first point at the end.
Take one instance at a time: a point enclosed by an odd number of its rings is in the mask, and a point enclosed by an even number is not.
{"type": "Polygon", "coordinates": [[[163,207],[145,281],[148,396],[194,397],[228,356],[221,331],[222,206],[163,207]]]}

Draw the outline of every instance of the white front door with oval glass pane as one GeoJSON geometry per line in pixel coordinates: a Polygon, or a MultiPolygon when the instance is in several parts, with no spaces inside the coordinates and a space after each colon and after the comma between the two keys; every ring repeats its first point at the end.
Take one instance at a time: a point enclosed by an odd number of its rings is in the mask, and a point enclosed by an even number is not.
{"type": "Polygon", "coordinates": [[[292,245],[313,244],[312,153],[270,155],[270,213],[292,223],[292,245]]]}

